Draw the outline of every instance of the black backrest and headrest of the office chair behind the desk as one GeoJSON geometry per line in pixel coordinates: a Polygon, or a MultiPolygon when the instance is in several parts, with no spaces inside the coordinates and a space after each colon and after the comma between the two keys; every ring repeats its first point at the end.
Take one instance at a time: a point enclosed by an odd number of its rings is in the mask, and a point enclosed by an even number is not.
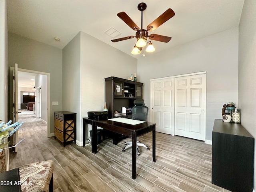
{"type": "Polygon", "coordinates": [[[132,119],[146,121],[148,116],[148,107],[144,106],[144,99],[134,100],[134,106],[132,108],[132,119]]]}

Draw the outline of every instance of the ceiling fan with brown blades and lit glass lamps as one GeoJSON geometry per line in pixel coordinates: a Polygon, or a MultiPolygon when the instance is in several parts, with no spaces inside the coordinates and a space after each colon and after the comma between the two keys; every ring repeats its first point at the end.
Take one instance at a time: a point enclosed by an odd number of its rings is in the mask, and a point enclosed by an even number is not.
{"type": "MultiPolygon", "coordinates": [[[[111,41],[112,42],[118,42],[118,41],[132,39],[132,38],[136,37],[137,43],[134,46],[136,51],[133,53],[134,50],[132,50],[132,54],[139,54],[140,50],[142,50],[142,47],[146,46],[147,43],[149,43],[148,48],[149,47],[152,48],[151,50],[149,49],[148,52],[153,52],[155,50],[154,47],[152,46],[151,41],[146,42],[147,38],[149,38],[150,40],[155,40],[155,41],[168,43],[171,40],[171,37],[162,36],[162,35],[158,35],[158,34],[150,34],[149,35],[148,31],[155,30],[160,25],[162,25],[164,22],[166,22],[167,20],[172,18],[175,15],[174,11],[171,8],[167,9],[162,15],[160,15],[152,23],[150,23],[147,26],[147,30],[145,30],[145,29],[142,29],[142,12],[146,8],[147,8],[146,3],[138,4],[138,10],[141,11],[141,29],[133,22],[133,20],[125,12],[118,13],[117,16],[120,19],[122,19],[130,28],[132,28],[133,30],[135,30],[137,32],[136,32],[135,36],[128,36],[128,37],[113,39],[111,41]],[[140,48],[140,49],[138,49],[138,48],[140,48]]],[[[146,49],[146,51],[147,51],[147,49],[146,49]]]]}

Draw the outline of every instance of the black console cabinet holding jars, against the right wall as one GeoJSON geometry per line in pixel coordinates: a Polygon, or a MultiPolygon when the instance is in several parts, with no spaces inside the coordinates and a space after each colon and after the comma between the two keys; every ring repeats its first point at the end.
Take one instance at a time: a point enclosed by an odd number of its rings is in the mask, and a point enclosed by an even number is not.
{"type": "Polygon", "coordinates": [[[212,183],[232,192],[252,192],[254,138],[241,125],[214,120],[212,183]]]}

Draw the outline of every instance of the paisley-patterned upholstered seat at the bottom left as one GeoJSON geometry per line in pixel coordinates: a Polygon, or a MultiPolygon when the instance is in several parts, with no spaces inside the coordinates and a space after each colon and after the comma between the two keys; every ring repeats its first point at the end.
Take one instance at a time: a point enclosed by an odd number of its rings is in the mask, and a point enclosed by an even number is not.
{"type": "Polygon", "coordinates": [[[53,192],[52,160],[19,166],[22,192],[53,192]]]}

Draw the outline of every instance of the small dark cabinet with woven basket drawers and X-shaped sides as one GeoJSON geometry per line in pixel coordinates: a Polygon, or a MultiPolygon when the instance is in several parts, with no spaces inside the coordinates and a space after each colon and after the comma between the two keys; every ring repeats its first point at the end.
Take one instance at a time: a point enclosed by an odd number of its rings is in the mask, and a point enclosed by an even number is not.
{"type": "Polygon", "coordinates": [[[58,139],[65,147],[66,142],[76,144],[76,113],[69,111],[54,112],[54,139],[58,139]]]}

